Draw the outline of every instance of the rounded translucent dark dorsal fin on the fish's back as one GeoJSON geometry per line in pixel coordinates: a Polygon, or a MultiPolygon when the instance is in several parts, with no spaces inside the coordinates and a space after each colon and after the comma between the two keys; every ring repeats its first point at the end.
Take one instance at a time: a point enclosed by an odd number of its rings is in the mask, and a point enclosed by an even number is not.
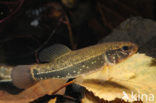
{"type": "Polygon", "coordinates": [[[39,60],[41,62],[49,62],[70,51],[71,50],[63,44],[54,44],[39,52],[39,60]]]}

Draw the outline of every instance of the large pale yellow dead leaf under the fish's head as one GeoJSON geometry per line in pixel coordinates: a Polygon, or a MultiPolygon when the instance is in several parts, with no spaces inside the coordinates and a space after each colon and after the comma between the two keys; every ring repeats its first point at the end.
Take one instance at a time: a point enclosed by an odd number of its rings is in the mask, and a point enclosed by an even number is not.
{"type": "Polygon", "coordinates": [[[156,64],[153,58],[138,53],[110,68],[82,75],[76,83],[101,99],[156,103],[156,65],[153,64],[156,64]]]}

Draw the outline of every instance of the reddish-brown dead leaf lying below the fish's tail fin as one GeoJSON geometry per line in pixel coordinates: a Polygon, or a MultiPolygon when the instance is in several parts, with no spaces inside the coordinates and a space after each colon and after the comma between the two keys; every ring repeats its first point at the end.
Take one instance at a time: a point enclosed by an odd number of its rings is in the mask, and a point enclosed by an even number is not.
{"type": "MultiPolygon", "coordinates": [[[[64,79],[42,80],[18,95],[12,95],[5,91],[0,91],[0,103],[29,103],[46,94],[52,94],[65,83],[66,80],[64,79]]],[[[65,90],[62,89],[58,94],[64,94],[64,91],[65,90]]]]}

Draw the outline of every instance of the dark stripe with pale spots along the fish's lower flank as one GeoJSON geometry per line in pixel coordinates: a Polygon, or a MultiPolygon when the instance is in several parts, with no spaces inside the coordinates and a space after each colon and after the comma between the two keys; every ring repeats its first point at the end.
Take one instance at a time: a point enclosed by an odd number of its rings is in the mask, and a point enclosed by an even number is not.
{"type": "Polygon", "coordinates": [[[37,69],[33,69],[33,78],[35,80],[42,80],[48,78],[74,78],[83,73],[88,73],[88,71],[95,70],[95,68],[100,68],[104,66],[104,57],[103,55],[91,58],[87,61],[75,64],[73,66],[64,68],[59,71],[49,71],[46,73],[40,73],[37,69]]]}

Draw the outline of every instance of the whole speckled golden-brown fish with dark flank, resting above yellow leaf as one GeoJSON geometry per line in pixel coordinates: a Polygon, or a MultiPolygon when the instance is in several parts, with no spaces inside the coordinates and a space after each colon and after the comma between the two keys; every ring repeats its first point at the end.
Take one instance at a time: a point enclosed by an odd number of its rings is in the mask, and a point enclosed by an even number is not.
{"type": "Polygon", "coordinates": [[[39,58],[45,63],[16,66],[11,78],[15,86],[20,88],[44,79],[76,78],[103,66],[120,63],[137,50],[138,46],[131,42],[100,43],[78,50],[55,44],[40,53],[39,58]]]}

